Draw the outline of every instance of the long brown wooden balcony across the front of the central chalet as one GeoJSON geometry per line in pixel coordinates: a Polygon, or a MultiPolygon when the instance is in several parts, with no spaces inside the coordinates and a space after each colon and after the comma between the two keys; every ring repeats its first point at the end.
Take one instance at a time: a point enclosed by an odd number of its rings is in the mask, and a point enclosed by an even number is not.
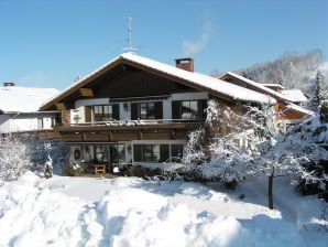
{"type": "Polygon", "coordinates": [[[186,139],[190,131],[203,125],[203,119],[101,121],[58,126],[54,131],[67,142],[174,140],[186,139]]]}

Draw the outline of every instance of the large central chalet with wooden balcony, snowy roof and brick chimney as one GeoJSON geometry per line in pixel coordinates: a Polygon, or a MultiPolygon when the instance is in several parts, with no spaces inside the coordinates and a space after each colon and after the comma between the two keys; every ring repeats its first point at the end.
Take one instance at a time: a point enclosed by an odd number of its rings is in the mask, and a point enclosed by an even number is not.
{"type": "Polygon", "coordinates": [[[193,58],[176,66],[124,53],[44,104],[61,111],[54,127],[70,162],[158,167],[182,157],[188,133],[205,122],[207,100],[274,105],[267,95],[194,72],[193,58]]]}

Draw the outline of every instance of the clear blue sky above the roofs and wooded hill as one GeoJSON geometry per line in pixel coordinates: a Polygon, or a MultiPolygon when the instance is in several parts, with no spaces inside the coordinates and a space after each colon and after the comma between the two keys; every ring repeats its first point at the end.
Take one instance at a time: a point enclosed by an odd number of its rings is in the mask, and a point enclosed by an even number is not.
{"type": "Polygon", "coordinates": [[[0,0],[0,82],[68,87],[127,47],[204,74],[315,49],[328,60],[326,0],[0,0]]]}

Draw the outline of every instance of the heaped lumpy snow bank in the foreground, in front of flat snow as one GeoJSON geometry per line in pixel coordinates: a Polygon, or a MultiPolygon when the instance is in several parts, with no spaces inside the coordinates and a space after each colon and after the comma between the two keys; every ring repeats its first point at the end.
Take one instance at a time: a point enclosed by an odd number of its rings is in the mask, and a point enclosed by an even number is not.
{"type": "Polygon", "coordinates": [[[0,187],[0,246],[303,246],[293,224],[266,215],[197,214],[129,186],[87,204],[31,172],[0,187]]]}

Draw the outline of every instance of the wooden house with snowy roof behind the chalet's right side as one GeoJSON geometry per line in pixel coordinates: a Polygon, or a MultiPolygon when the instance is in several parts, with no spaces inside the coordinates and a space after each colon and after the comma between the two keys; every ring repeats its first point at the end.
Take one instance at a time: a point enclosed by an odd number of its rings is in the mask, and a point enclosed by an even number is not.
{"type": "Polygon", "coordinates": [[[305,116],[313,115],[310,110],[303,107],[307,99],[298,89],[284,90],[281,85],[255,83],[232,72],[227,72],[219,78],[273,97],[276,100],[275,121],[282,130],[288,125],[298,122],[305,116]]]}

